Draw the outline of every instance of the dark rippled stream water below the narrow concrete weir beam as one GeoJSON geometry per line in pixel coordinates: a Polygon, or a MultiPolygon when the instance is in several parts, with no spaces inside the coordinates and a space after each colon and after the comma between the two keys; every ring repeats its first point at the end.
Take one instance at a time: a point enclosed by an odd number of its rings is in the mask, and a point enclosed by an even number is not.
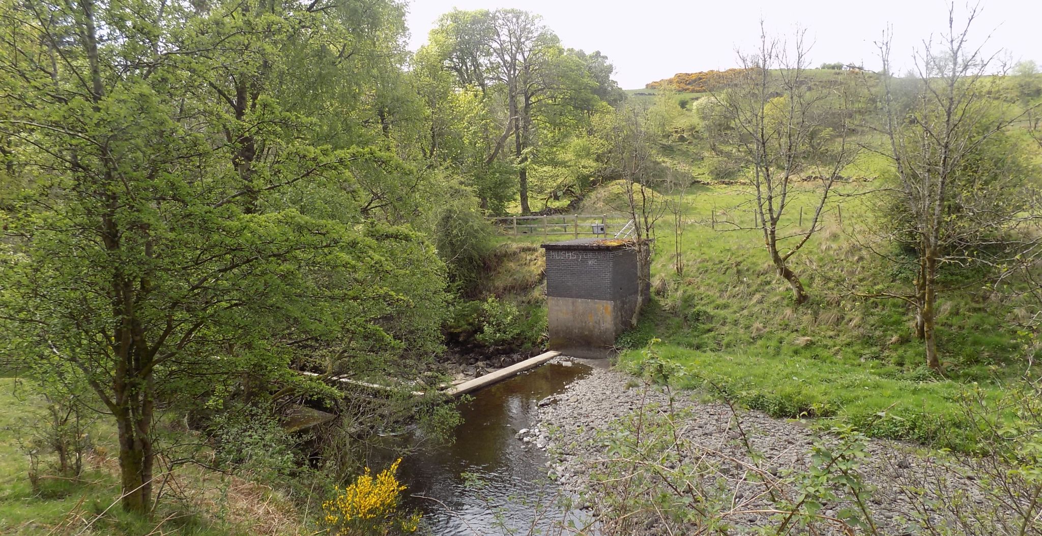
{"type": "Polygon", "coordinates": [[[411,495],[406,506],[423,511],[438,536],[502,534],[502,524],[526,534],[537,503],[556,490],[546,478],[546,454],[516,434],[532,427],[540,400],[589,374],[580,363],[539,366],[461,403],[464,422],[454,443],[427,446],[422,438],[407,439],[420,446],[399,468],[411,495]]]}

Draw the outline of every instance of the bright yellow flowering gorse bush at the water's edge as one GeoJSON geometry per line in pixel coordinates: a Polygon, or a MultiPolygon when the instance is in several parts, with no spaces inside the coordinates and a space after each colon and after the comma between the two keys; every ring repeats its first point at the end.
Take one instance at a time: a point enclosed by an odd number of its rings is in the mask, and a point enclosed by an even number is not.
{"type": "Polygon", "coordinates": [[[366,467],[352,484],[343,489],[338,486],[336,497],[322,504],[326,525],[342,534],[388,534],[394,527],[402,532],[416,531],[419,516],[399,519],[397,512],[399,494],[405,490],[395,477],[400,463],[398,458],[375,477],[366,467]]]}

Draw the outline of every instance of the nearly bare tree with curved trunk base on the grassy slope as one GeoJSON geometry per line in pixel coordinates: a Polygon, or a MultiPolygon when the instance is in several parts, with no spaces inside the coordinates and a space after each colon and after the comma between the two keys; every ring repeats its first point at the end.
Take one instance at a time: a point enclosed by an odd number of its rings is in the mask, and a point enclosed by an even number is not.
{"type": "Polygon", "coordinates": [[[716,81],[711,91],[717,119],[726,125],[711,147],[717,157],[747,170],[753,187],[752,227],[725,221],[725,230],[763,234],[771,262],[797,305],[807,302],[808,292],[790,259],[820,230],[833,186],[857,154],[847,139],[848,85],[842,79],[811,79],[809,51],[803,31],[790,47],[768,36],[761,23],[758,50],[740,52],[742,69],[716,81]],[[815,187],[802,187],[800,181],[815,187]],[[811,198],[814,213],[810,227],[796,228],[787,216],[804,197],[811,198]]]}

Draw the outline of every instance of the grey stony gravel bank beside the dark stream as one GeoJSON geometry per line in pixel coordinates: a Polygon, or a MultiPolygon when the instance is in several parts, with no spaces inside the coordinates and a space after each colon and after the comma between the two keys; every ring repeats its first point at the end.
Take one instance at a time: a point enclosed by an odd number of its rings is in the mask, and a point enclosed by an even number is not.
{"type": "MultiPolygon", "coordinates": [[[[585,508],[602,520],[625,514],[627,530],[638,522],[645,534],[691,530],[663,508],[680,503],[696,525],[712,519],[743,532],[810,524],[844,534],[847,524],[859,534],[873,527],[877,534],[969,534],[971,526],[1018,522],[1019,502],[995,489],[988,460],[945,459],[850,432],[821,435],[808,422],[735,412],[692,391],[672,394],[671,403],[661,386],[595,368],[541,401],[539,425],[519,440],[545,446],[551,478],[585,508]],[[832,467],[815,470],[823,465],[832,467]],[[673,497],[650,496],[662,493],[673,497]]],[[[1026,527],[1026,534],[1042,531],[1037,521],[1026,527]]]]}

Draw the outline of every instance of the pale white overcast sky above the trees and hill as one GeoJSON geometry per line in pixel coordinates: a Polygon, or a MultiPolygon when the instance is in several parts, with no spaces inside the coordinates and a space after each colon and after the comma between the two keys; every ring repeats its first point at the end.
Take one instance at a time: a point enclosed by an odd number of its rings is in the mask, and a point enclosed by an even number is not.
{"type": "MultiPolygon", "coordinates": [[[[966,4],[957,1],[957,17],[966,4]]],[[[947,26],[946,0],[410,0],[410,48],[417,50],[438,17],[451,10],[517,7],[543,16],[565,47],[599,50],[623,88],[643,87],[675,73],[737,66],[736,49],[755,45],[759,21],[768,33],[807,29],[812,65],[843,61],[877,69],[874,42],[893,27],[895,72],[913,66],[922,41],[947,26]]],[[[981,0],[971,39],[1009,61],[1042,66],[1042,0],[981,0]]],[[[957,19],[958,20],[958,19],[957,19]]]]}

